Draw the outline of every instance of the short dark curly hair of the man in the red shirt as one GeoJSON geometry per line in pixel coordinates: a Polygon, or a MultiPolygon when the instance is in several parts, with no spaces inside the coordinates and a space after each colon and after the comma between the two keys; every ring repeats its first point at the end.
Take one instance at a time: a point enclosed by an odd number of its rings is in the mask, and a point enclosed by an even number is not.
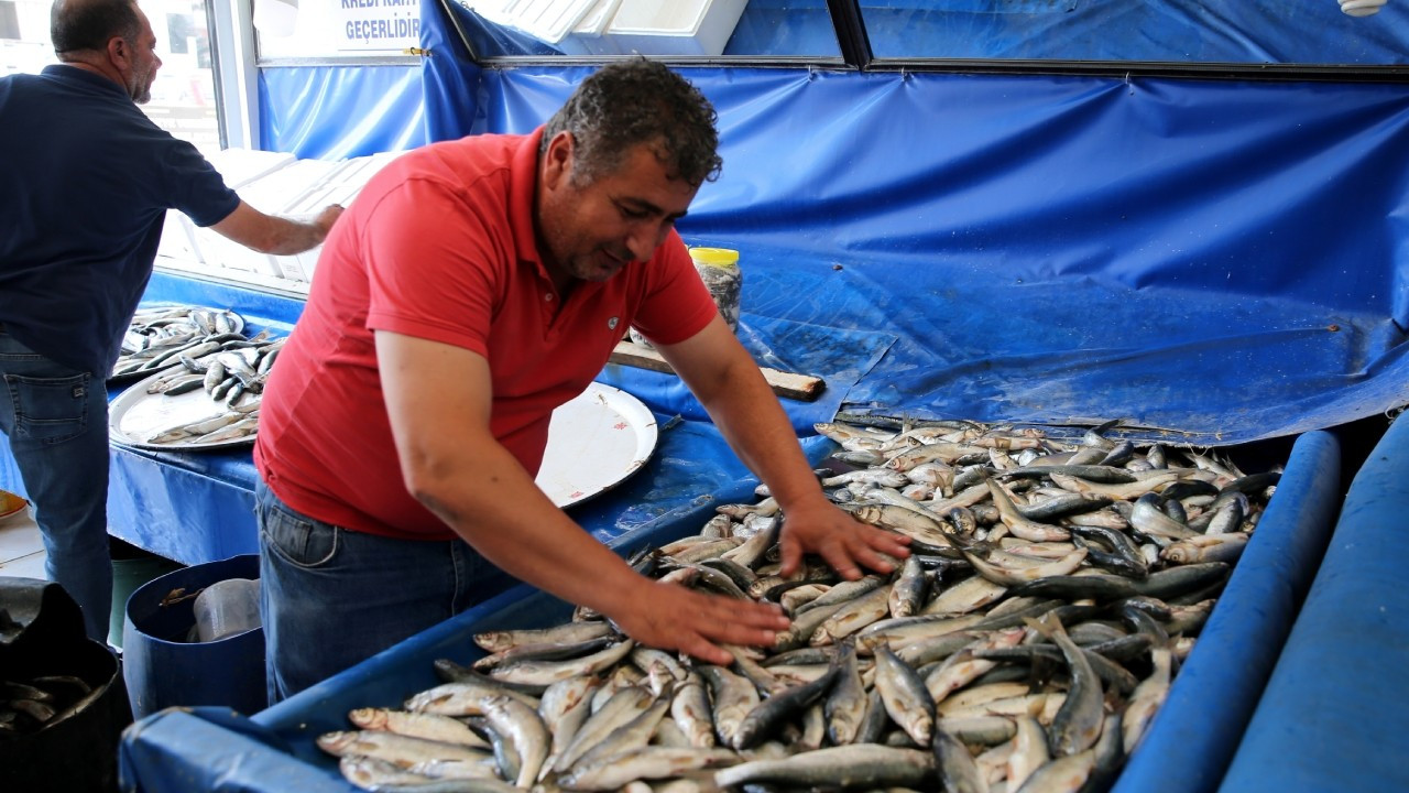
{"type": "Polygon", "coordinates": [[[719,178],[714,106],[685,78],[645,58],[609,63],[582,80],[548,120],[542,151],[566,130],[576,144],[572,182],[590,183],[610,174],[624,154],[647,144],[672,179],[699,186],[719,178]]]}

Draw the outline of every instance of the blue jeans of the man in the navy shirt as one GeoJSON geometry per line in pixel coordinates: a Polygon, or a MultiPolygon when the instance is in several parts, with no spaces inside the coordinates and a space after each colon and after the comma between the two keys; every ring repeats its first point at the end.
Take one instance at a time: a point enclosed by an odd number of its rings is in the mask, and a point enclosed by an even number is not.
{"type": "Polygon", "coordinates": [[[44,571],[83,610],[90,639],[107,639],[113,562],[107,550],[107,388],[0,330],[0,432],[44,535],[44,571]]]}

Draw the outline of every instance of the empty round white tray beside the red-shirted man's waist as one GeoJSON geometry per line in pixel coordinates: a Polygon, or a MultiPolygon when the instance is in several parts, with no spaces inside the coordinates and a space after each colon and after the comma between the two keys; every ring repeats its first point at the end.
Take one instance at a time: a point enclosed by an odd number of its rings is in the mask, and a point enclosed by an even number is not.
{"type": "Polygon", "coordinates": [[[558,507],[586,501],[640,470],[655,440],[655,416],[640,399],[593,382],[552,412],[538,488],[558,507]]]}

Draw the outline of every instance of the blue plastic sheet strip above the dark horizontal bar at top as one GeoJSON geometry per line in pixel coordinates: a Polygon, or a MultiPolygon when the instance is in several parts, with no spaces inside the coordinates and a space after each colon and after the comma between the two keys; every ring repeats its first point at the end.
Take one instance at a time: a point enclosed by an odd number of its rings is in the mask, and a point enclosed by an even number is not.
{"type": "MultiPolygon", "coordinates": [[[[557,54],[451,7],[480,56],[557,54]]],[[[861,3],[861,16],[875,56],[893,59],[1396,65],[1409,58],[1409,8],[1394,1],[1368,18],[1341,13],[1333,0],[882,0],[861,3]]],[[[840,48],[823,0],[750,0],[724,55],[837,58],[840,48]]]]}

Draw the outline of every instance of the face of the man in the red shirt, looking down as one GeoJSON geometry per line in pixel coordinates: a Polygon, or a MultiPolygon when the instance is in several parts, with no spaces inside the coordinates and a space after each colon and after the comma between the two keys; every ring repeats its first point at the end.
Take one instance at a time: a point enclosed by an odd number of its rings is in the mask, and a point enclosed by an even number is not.
{"type": "Polygon", "coordinates": [[[573,183],[569,133],[544,152],[538,234],[555,277],[606,281],[631,261],[650,258],[685,216],[697,186],[671,179],[651,147],[626,152],[621,165],[590,183],[573,183]]]}

